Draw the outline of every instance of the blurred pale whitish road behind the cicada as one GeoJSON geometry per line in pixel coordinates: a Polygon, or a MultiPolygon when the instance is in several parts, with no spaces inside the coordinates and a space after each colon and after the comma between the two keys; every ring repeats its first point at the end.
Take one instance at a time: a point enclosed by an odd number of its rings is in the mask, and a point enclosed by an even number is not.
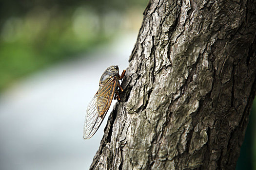
{"type": "Polygon", "coordinates": [[[136,36],[119,36],[86,57],[35,73],[3,92],[0,170],[89,169],[112,108],[95,136],[83,140],[87,105],[107,67],[127,68],[136,36]]]}

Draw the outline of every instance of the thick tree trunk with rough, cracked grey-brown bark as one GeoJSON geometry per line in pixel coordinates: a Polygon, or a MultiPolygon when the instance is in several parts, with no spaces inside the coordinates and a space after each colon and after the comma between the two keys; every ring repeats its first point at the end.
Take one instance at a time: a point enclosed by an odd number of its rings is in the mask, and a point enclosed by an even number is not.
{"type": "Polygon", "coordinates": [[[153,0],[92,170],[234,170],[256,94],[256,0],[153,0]]]}

